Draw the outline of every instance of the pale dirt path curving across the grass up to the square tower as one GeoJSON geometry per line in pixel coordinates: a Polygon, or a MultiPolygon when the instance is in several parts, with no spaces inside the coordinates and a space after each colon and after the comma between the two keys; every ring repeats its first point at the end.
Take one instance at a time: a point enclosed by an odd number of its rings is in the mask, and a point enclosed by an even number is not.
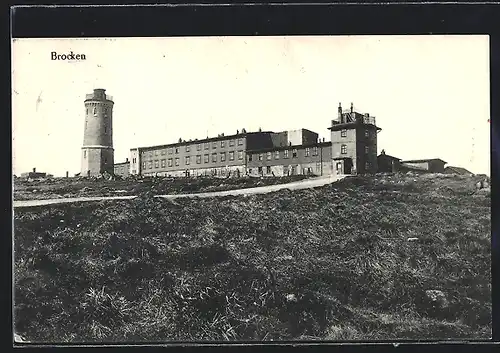
{"type": "MultiPolygon", "coordinates": [[[[328,177],[317,177],[311,179],[305,179],[301,181],[296,181],[293,183],[279,184],[279,185],[268,185],[259,186],[255,188],[246,189],[236,189],[227,191],[214,191],[214,192],[203,192],[195,194],[178,194],[178,195],[156,195],[155,197],[166,198],[166,199],[177,199],[185,197],[217,197],[217,196],[236,196],[236,195],[254,195],[254,194],[266,194],[269,192],[274,192],[283,189],[289,190],[300,190],[314,188],[318,186],[323,186],[326,184],[333,183],[337,180],[344,178],[344,176],[328,176],[328,177]]],[[[14,208],[20,207],[33,207],[33,206],[44,206],[44,205],[55,205],[60,203],[69,202],[88,202],[88,201],[102,201],[102,200],[131,200],[137,196],[96,196],[96,197],[72,197],[72,198],[59,198],[59,199],[46,199],[46,200],[15,200],[14,208]]]]}

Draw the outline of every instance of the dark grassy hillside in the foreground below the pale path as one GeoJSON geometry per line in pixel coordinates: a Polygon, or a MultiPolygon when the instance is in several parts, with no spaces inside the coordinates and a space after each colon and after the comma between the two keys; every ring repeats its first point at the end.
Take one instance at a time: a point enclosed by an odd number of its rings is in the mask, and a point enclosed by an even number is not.
{"type": "Polygon", "coordinates": [[[491,336],[490,195],[458,176],[16,210],[31,341],[491,336]]]}

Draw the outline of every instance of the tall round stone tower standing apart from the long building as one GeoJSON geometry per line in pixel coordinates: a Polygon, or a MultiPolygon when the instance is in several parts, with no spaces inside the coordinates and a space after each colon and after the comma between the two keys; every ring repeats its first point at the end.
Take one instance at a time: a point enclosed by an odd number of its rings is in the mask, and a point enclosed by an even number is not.
{"type": "Polygon", "coordinates": [[[104,89],[85,96],[85,128],[80,175],[114,172],[113,98],[104,89]]]}

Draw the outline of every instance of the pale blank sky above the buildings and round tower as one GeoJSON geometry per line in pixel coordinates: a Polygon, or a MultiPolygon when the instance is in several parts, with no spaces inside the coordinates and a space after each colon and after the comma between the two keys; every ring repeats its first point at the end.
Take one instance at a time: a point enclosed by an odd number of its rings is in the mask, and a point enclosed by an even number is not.
{"type": "Polygon", "coordinates": [[[80,171],[85,95],[113,96],[115,163],[130,149],[305,128],[337,107],[376,117],[378,153],[490,174],[488,36],[14,39],[13,173],[80,171]],[[51,52],[85,54],[51,60],[51,52]]]}

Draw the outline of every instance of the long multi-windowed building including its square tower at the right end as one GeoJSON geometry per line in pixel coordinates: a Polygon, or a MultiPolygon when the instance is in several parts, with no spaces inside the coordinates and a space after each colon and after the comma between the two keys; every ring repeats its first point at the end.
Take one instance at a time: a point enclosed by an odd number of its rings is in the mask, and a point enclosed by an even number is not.
{"type": "MultiPolygon", "coordinates": [[[[286,176],[377,172],[375,118],[351,109],[332,120],[331,141],[307,129],[247,132],[130,150],[129,170],[144,176],[286,176]]],[[[125,175],[123,165],[115,173],[125,175]]]]}

